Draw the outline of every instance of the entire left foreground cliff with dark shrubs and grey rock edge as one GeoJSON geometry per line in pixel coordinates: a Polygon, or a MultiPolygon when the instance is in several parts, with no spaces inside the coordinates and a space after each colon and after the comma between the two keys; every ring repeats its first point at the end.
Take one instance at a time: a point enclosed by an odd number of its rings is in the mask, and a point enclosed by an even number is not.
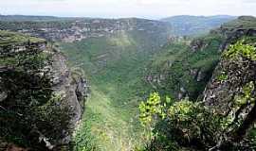
{"type": "Polygon", "coordinates": [[[0,38],[0,148],[67,147],[82,116],[87,82],[46,41],[6,31],[0,38]]]}

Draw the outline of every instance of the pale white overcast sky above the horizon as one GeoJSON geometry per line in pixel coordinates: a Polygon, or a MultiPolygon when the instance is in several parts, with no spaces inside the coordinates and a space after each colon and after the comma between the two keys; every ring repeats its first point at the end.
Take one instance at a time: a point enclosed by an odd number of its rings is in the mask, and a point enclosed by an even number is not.
{"type": "Polygon", "coordinates": [[[143,17],[254,15],[256,0],[0,0],[0,14],[143,17]]]}

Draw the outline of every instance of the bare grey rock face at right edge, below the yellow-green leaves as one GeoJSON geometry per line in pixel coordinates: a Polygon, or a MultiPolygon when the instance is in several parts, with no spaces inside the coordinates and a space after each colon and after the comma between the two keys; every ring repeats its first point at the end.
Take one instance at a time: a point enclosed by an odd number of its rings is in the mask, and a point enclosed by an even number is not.
{"type": "Polygon", "coordinates": [[[255,79],[256,61],[243,58],[223,59],[215,69],[210,84],[204,92],[204,102],[207,106],[227,114],[235,96],[243,91],[247,83],[255,79]],[[221,79],[221,76],[225,78],[221,79]]]}

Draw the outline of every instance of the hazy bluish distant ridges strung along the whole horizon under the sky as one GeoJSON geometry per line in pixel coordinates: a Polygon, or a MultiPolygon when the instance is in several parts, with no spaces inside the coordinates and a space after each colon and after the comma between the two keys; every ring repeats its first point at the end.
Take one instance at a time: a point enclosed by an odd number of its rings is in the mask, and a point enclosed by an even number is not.
{"type": "MultiPolygon", "coordinates": [[[[168,17],[168,18],[164,18],[159,21],[156,21],[156,20],[148,20],[148,19],[142,19],[142,18],[106,19],[106,18],[89,18],[89,17],[0,15],[0,29],[9,29],[9,28],[25,29],[27,24],[30,25],[30,28],[34,28],[38,30],[38,29],[42,29],[42,28],[44,29],[52,26],[56,28],[56,25],[57,25],[57,28],[59,27],[66,28],[66,27],[72,26],[72,24],[78,24],[79,22],[89,23],[89,24],[91,22],[93,23],[95,22],[95,24],[97,25],[90,24],[90,26],[96,26],[96,27],[99,25],[101,26],[105,24],[108,24],[107,26],[111,26],[111,25],[122,26],[122,25],[125,25],[125,23],[127,22],[134,22],[134,23],[144,22],[149,24],[153,23],[158,25],[169,26],[170,29],[172,28],[172,35],[174,36],[194,36],[194,35],[206,34],[210,31],[210,29],[217,28],[220,25],[225,24],[236,18],[237,17],[235,16],[229,16],[229,15],[215,15],[215,16],[180,15],[180,16],[168,17]],[[100,23],[98,23],[99,21],[100,23]],[[22,24],[16,25],[17,23],[22,23],[22,24]],[[45,23],[45,25],[42,23],[45,23]],[[7,28],[7,26],[9,28],[7,28]]],[[[38,35],[33,35],[33,36],[38,36],[38,35]]],[[[72,37],[73,36],[75,35],[72,34],[72,37]]],[[[61,37],[63,38],[63,36],[61,37]]],[[[59,38],[55,37],[55,39],[59,39],[59,38]]],[[[70,37],[68,39],[70,39],[70,37]]]]}

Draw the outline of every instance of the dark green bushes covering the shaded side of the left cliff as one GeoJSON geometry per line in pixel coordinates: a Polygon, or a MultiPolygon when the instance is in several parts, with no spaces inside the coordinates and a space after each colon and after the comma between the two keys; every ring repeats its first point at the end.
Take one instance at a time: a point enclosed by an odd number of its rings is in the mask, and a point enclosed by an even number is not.
{"type": "Polygon", "coordinates": [[[38,143],[37,138],[46,131],[52,132],[47,133],[48,136],[51,135],[52,141],[61,137],[60,127],[67,126],[69,116],[55,106],[60,97],[49,89],[51,80],[47,76],[48,71],[38,76],[49,62],[50,56],[41,51],[24,52],[7,59],[2,57],[0,86],[1,92],[8,93],[0,103],[1,139],[46,150],[44,145],[38,143]]]}

